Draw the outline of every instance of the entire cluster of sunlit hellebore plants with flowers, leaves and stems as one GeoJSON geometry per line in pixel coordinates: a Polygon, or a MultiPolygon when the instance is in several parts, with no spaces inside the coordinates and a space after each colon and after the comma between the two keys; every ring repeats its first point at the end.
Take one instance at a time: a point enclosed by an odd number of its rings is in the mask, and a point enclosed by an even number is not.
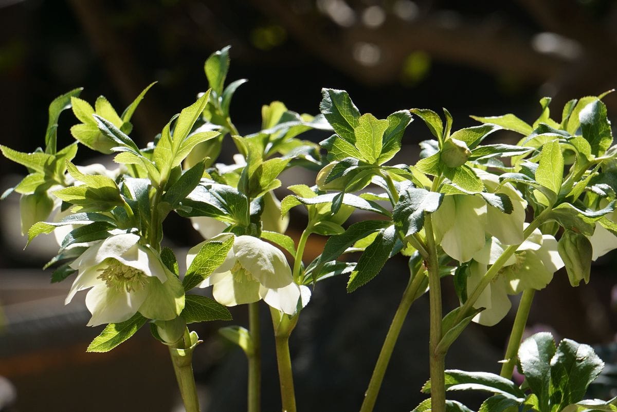
{"type": "MultiPolygon", "coordinates": [[[[473,117],[478,126],[453,130],[450,113],[400,110],[385,119],[361,113],[345,91],[323,89],[321,113],[299,114],[281,102],[262,108],[262,126],[242,136],[231,122],[231,99],[244,80],[225,86],[229,48],[205,62],[210,89],[181,110],[154,141],[130,138],[131,116],[148,86],[121,115],[104,98],[93,105],[81,89],[49,107],[44,148],[2,154],[28,168],[11,191],[20,194],[28,242],[53,233],[59,253],[52,282],[72,277],[66,303],[88,289],[89,326],[106,324],[89,352],[106,352],[148,324],[170,350],[186,410],[197,411],[191,356],[200,343],[191,323],[231,320],[226,307],[246,304],[249,328],[223,328],[249,360],[249,411],[260,410],[259,302],[270,307],[281,402],[296,411],[289,336],[317,282],[347,276],[347,291],[365,287],[395,255],[408,259],[409,281],[379,353],[362,412],[373,410],[395,342],[412,303],[430,302],[430,398],[414,411],[470,411],[447,390],[487,390],[479,411],[617,411],[615,399],[583,400],[603,363],[587,346],[541,333],[521,344],[534,292],[565,266],[572,286],[589,282],[592,260],[617,247],[617,148],[601,96],[569,101],[561,118],[550,98],[527,123],[513,114],[473,117]],[[57,149],[60,113],[80,123],[75,142],[57,149]],[[420,143],[415,165],[390,164],[413,118],[434,139],[420,143]],[[331,134],[320,144],[302,133],[331,134]],[[516,144],[486,143],[499,130],[516,144]],[[217,163],[223,139],[235,163],[217,163]],[[72,163],[78,147],[114,155],[116,170],[72,163]],[[324,155],[325,153],[325,155],[324,155]],[[294,184],[279,202],[278,176],[294,167],[318,170],[315,184],[294,184]],[[307,210],[296,241],[285,234],[291,208],[307,210]],[[370,213],[351,225],[354,210],[370,213]],[[190,218],[205,241],[186,257],[161,247],[170,213],[190,218]],[[307,239],[327,236],[323,252],[303,262],[307,239]],[[287,252],[292,257],[289,265],[287,252]],[[354,257],[359,258],[354,259],[354,257]],[[306,263],[306,264],[305,264],[306,263]],[[441,285],[453,282],[460,306],[442,313],[441,285]],[[212,286],[214,299],[194,292],[212,286]],[[445,370],[445,355],[472,321],[499,323],[521,295],[500,376],[445,370]],[[518,365],[523,385],[511,381],[518,365]]],[[[370,286],[369,286],[370,287],[370,286]]],[[[497,360],[495,360],[497,361],[497,360]]],[[[413,408],[413,405],[410,405],[413,408]]]]}

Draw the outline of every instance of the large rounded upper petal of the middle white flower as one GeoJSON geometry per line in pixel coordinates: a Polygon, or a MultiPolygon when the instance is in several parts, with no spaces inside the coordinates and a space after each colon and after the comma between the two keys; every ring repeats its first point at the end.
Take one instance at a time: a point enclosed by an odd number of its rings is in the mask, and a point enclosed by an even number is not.
{"type": "Polygon", "coordinates": [[[268,289],[293,282],[291,268],[281,250],[253,236],[238,236],[233,244],[236,259],[257,281],[268,289]]]}

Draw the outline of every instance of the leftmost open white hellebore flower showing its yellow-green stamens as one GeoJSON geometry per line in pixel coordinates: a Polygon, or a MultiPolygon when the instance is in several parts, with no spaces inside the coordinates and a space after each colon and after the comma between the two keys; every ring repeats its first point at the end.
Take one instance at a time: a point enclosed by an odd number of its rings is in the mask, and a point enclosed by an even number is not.
{"type": "Polygon", "coordinates": [[[184,308],[184,289],[176,276],[136,234],[115,234],[91,245],[71,263],[78,270],[65,305],[92,288],[86,307],[88,326],[119,323],[139,311],[149,319],[175,319],[184,308]]]}

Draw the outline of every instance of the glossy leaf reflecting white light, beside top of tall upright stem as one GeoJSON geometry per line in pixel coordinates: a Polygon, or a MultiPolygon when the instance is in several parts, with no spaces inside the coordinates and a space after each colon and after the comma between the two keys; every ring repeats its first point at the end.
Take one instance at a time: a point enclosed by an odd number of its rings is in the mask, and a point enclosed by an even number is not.
{"type": "Polygon", "coordinates": [[[444,200],[442,193],[415,187],[405,189],[399,196],[399,202],[392,210],[392,220],[405,237],[420,232],[424,227],[424,212],[435,212],[444,200]]]}

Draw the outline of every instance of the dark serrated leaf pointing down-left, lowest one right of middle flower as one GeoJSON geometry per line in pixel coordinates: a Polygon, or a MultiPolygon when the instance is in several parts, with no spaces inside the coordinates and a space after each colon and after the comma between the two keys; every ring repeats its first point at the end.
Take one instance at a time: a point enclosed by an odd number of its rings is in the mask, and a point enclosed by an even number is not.
{"type": "Polygon", "coordinates": [[[358,264],[355,266],[355,270],[349,276],[347,292],[353,292],[377,276],[390,257],[396,240],[397,236],[394,225],[379,231],[375,241],[362,253],[358,264]]]}

